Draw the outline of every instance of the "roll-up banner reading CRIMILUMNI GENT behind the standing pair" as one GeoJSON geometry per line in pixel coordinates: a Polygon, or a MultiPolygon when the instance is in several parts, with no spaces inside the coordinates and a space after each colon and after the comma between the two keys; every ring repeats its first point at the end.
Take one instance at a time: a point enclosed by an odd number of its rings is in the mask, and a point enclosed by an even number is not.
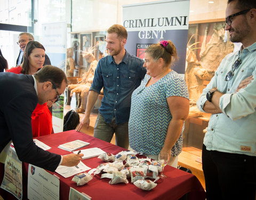
{"type": "Polygon", "coordinates": [[[128,32],[125,49],[143,59],[148,46],[170,40],[179,60],[172,69],[185,74],[189,1],[159,1],[123,6],[123,26],[128,32]]]}

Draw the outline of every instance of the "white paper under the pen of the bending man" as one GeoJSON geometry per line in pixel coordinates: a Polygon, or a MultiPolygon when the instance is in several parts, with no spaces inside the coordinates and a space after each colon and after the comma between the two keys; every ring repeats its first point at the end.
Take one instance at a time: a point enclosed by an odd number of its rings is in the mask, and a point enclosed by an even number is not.
{"type": "Polygon", "coordinates": [[[68,178],[71,177],[72,175],[90,170],[91,167],[86,166],[84,163],[82,163],[80,161],[80,163],[76,166],[73,167],[67,167],[67,166],[58,166],[57,169],[55,170],[55,172],[57,172],[58,174],[62,175],[62,177],[64,178],[68,178]]]}

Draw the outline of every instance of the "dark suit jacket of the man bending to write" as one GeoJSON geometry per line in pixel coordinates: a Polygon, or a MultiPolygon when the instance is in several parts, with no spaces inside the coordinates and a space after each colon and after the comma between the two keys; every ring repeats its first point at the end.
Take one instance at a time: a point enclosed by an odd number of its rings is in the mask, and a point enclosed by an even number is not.
{"type": "Polygon", "coordinates": [[[37,147],[33,141],[31,114],[37,105],[31,75],[0,73],[0,153],[12,140],[22,162],[55,171],[61,156],[37,147]]]}

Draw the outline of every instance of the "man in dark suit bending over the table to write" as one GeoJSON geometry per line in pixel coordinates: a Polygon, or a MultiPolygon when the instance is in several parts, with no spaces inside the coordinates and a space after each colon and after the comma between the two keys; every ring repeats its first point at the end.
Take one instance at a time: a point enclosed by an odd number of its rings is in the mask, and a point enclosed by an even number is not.
{"type": "Polygon", "coordinates": [[[34,76],[0,73],[0,160],[4,162],[3,149],[13,142],[22,162],[55,171],[59,165],[76,166],[83,154],[61,156],[45,151],[33,142],[31,114],[37,102],[58,99],[66,89],[65,73],[53,66],[45,66],[34,76]],[[2,159],[1,159],[2,158],[2,159]]]}

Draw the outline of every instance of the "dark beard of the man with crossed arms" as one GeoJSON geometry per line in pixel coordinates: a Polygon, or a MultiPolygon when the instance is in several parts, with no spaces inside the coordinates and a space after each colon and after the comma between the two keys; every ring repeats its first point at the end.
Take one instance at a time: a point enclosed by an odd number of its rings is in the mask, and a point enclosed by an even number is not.
{"type": "Polygon", "coordinates": [[[231,28],[229,31],[234,31],[232,35],[230,35],[231,42],[242,42],[243,39],[250,33],[251,27],[248,22],[245,20],[243,22],[243,27],[240,28],[231,28]]]}

